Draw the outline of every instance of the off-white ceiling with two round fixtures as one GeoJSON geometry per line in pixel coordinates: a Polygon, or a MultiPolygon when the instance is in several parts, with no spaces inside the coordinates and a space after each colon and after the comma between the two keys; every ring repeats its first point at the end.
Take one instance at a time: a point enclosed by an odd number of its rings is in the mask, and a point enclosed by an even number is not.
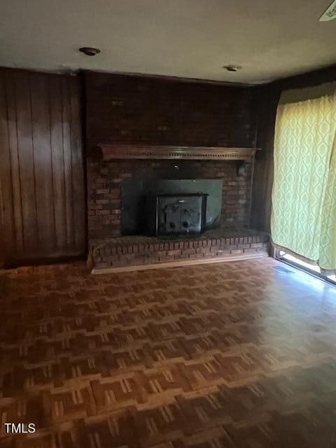
{"type": "Polygon", "coordinates": [[[336,20],[318,21],[330,2],[1,0],[0,65],[266,82],[336,63],[336,20]]]}

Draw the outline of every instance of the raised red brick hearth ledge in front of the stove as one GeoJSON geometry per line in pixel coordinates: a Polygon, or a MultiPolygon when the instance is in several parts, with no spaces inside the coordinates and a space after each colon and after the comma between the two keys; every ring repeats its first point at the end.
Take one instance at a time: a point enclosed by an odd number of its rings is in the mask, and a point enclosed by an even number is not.
{"type": "Polygon", "coordinates": [[[94,269],[141,267],[166,262],[226,260],[267,256],[269,237],[253,230],[209,230],[198,237],[162,239],[117,237],[92,240],[90,261],[94,269]]]}

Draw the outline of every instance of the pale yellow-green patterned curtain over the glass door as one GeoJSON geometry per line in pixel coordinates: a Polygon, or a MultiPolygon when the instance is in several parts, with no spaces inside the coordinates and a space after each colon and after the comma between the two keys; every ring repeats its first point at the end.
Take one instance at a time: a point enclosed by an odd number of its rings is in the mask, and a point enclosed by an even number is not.
{"type": "Polygon", "coordinates": [[[281,94],[274,136],[274,246],[336,269],[336,83],[281,94]]]}

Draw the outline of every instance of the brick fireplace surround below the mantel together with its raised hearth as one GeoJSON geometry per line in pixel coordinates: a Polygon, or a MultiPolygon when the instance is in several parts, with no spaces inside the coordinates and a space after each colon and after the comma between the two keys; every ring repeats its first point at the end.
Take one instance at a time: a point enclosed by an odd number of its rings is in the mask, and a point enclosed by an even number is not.
{"type": "Polygon", "coordinates": [[[237,174],[237,163],[223,160],[89,159],[88,234],[93,272],[143,269],[166,263],[254,258],[268,254],[268,236],[248,228],[251,164],[237,174]],[[223,179],[221,225],[202,236],[158,239],[121,235],[121,184],[124,179],[223,179]]]}

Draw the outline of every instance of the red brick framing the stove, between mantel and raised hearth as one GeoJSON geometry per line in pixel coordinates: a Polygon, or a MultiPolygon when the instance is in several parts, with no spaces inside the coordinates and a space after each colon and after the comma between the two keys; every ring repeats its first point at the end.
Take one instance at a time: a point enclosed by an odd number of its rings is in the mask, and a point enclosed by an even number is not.
{"type": "Polygon", "coordinates": [[[248,224],[251,169],[245,176],[237,176],[234,162],[90,162],[87,176],[89,238],[120,236],[121,182],[130,177],[223,179],[221,227],[242,227],[248,224]]]}

